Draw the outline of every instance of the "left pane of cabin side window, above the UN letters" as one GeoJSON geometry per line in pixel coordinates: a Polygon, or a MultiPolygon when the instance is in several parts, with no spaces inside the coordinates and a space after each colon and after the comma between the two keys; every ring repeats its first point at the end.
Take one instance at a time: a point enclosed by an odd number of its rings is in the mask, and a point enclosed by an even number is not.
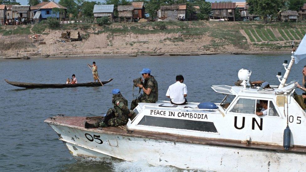
{"type": "Polygon", "coordinates": [[[255,100],[240,98],[230,112],[255,114],[255,100]]]}

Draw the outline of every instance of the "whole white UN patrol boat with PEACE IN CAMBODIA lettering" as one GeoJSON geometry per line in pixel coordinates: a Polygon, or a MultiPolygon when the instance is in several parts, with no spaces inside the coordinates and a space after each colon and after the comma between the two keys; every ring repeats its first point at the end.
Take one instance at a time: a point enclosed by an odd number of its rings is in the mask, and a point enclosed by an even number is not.
{"type": "MultiPolygon", "coordinates": [[[[75,157],[115,157],[182,169],[214,171],[304,171],[306,113],[286,84],[294,61],[306,57],[306,36],[279,86],[251,87],[251,72],[240,70],[243,86],[212,86],[221,103],[139,103],[127,126],[84,128],[85,117],[45,120],[75,157]],[[267,115],[260,100],[267,102],[267,115]],[[215,106],[215,107],[214,107],[215,106]]],[[[88,122],[93,122],[87,120],[88,122]]]]}

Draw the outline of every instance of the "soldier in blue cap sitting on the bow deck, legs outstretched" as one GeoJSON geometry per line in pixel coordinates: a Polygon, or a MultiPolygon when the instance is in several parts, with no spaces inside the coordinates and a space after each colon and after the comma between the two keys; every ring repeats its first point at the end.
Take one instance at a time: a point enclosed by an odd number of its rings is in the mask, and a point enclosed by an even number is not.
{"type": "Polygon", "coordinates": [[[117,127],[128,123],[129,116],[131,113],[128,108],[128,101],[121,95],[119,89],[113,89],[113,106],[109,108],[104,120],[102,122],[96,122],[90,124],[85,122],[85,128],[98,128],[98,127],[117,127]]]}

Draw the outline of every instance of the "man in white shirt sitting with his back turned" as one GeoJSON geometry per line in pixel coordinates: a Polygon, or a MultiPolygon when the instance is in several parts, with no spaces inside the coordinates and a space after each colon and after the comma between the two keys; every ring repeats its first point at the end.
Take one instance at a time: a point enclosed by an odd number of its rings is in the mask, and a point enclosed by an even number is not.
{"type": "Polygon", "coordinates": [[[187,87],[184,82],[182,75],[176,76],[177,82],[169,86],[166,97],[171,98],[171,104],[184,105],[187,103],[187,87]]]}

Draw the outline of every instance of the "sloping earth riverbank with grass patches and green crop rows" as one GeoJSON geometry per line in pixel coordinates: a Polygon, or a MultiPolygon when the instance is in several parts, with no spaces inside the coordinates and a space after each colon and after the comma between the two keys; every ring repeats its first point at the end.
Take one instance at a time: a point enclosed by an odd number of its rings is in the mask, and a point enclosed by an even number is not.
{"type": "Polygon", "coordinates": [[[49,29],[48,25],[2,26],[0,57],[46,58],[112,55],[200,55],[289,53],[305,34],[305,23],[262,22],[153,22],[78,23],[49,29]],[[82,41],[61,39],[79,31],[82,41]],[[31,36],[40,34],[39,43],[31,36]]]}

